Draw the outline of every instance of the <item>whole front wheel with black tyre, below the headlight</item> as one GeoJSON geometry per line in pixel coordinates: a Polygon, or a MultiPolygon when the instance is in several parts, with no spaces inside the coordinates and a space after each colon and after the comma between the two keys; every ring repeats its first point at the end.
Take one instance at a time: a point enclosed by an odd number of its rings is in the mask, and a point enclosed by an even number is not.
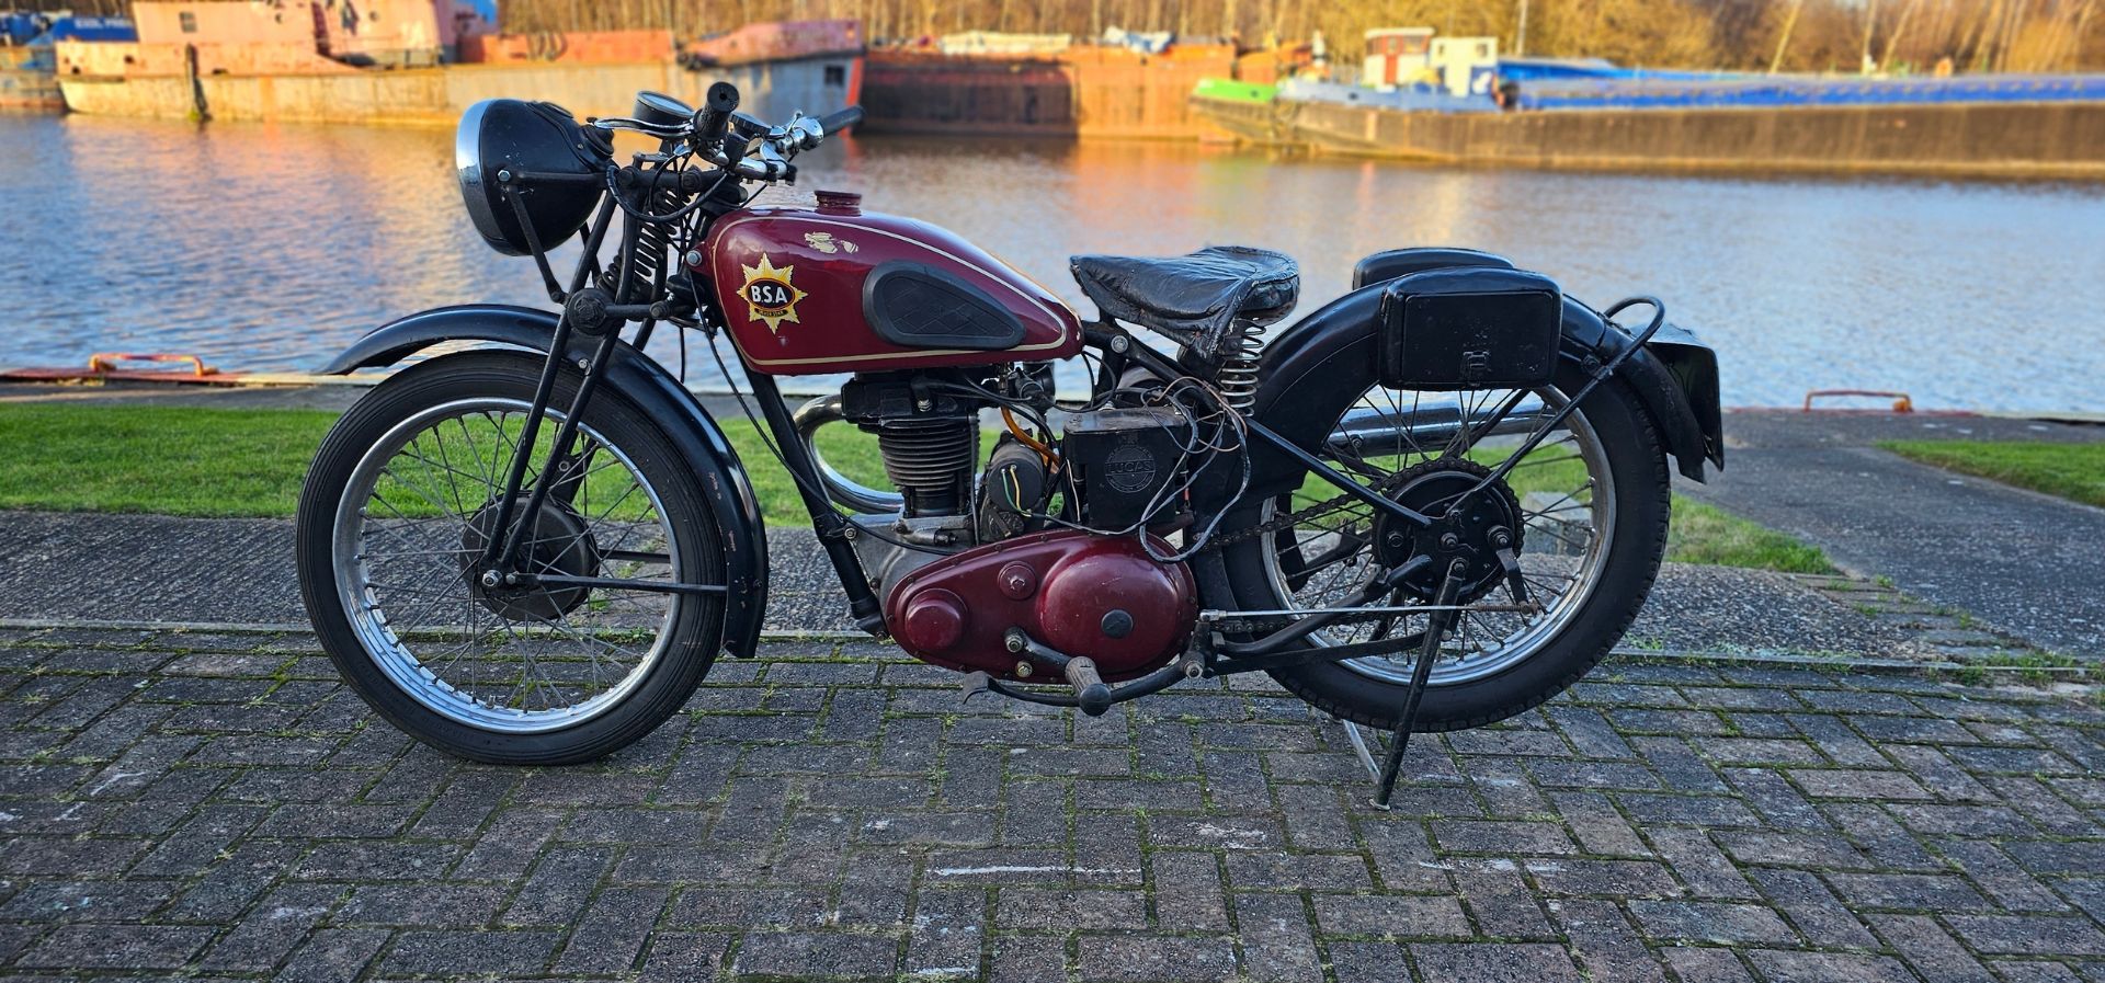
{"type": "MultiPolygon", "coordinates": [[[[535,577],[486,577],[541,366],[469,352],[387,379],[324,438],[295,530],[301,596],[343,680],[410,737],[493,764],[589,762],[642,739],[709,671],[724,621],[722,594],[539,581],[724,583],[676,444],[608,385],[522,541],[535,577]]],[[[577,383],[558,377],[512,526],[577,383]]]]}

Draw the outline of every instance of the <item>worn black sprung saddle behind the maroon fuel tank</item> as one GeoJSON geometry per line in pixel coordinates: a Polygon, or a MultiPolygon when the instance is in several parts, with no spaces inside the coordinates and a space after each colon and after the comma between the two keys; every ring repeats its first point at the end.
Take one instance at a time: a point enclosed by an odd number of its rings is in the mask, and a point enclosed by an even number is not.
{"type": "Polygon", "coordinates": [[[1076,282],[1107,318],[1145,324],[1210,358],[1238,320],[1271,324],[1301,299],[1284,253],[1206,246],[1183,257],[1071,257],[1076,282]]]}

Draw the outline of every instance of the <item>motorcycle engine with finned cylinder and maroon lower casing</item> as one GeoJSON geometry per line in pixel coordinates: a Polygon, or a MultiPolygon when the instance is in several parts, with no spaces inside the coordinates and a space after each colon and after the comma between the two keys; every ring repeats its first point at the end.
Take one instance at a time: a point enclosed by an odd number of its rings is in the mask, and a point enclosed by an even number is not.
{"type": "Polygon", "coordinates": [[[840,417],[876,436],[901,501],[857,520],[857,551],[918,659],[1029,680],[1044,667],[1019,655],[1027,638],[1124,680],[1189,640],[1198,594],[1164,535],[1185,516],[1194,423],[1139,394],[1065,415],[1057,442],[1017,419],[1046,423],[1050,408],[1042,366],[842,387],[840,417]],[[981,465],[981,415],[1000,410],[1008,429],[981,465]]]}

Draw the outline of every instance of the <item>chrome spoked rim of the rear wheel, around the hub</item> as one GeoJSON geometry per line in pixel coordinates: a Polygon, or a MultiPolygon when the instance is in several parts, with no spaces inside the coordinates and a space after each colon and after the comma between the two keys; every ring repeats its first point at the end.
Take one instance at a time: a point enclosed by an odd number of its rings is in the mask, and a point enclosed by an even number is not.
{"type": "MultiPolygon", "coordinates": [[[[1375,406],[1383,413],[1394,413],[1396,419],[1425,419],[1436,415],[1446,415],[1459,410],[1461,419],[1469,419],[1471,413],[1480,415],[1488,406],[1497,406],[1499,398],[1507,392],[1486,392],[1486,394],[1412,394],[1375,387],[1356,402],[1356,408],[1375,406]],[[1425,396],[1438,396],[1452,400],[1442,413],[1434,413],[1434,406],[1423,402],[1425,396]]],[[[1537,389],[1526,396],[1516,408],[1516,417],[1532,410],[1545,413],[1556,410],[1566,404],[1566,396],[1556,387],[1537,389]]],[[[1347,410],[1351,419],[1354,410],[1347,410]]],[[[1345,440],[1345,427],[1337,427],[1332,434],[1337,440],[1345,440]]],[[[1497,467],[1497,461],[1509,457],[1511,448],[1518,448],[1518,436],[1495,436],[1490,438],[1492,448],[1507,446],[1505,455],[1492,457],[1484,463],[1497,467]]],[[[1410,453],[1404,455],[1408,463],[1438,457],[1442,450],[1438,444],[1423,446],[1417,440],[1408,442],[1410,453]]],[[[1478,448],[1484,448],[1480,442],[1478,448]]],[[[1600,442],[1600,434],[1585,419],[1583,410],[1575,410],[1566,417],[1558,432],[1551,432],[1539,448],[1524,457],[1511,472],[1516,490],[1539,484],[1528,474],[1541,467],[1543,472],[1568,474],[1572,467],[1583,469],[1583,480],[1568,490],[1558,490],[1558,482],[1547,482],[1543,490],[1524,493],[1522,514],[1524,514],[1524,543],[1537,545],[1520,549],[1520,564],[1524,573],[1524,583],[1532,600],[1543,604],[1541,613],[1520,615],[1520,613],[1463,613],[1461,621],[1450,638],[1440,644],[1440,659],[1434,663],[1429,686],[1459,686],[1476,680],[1484,680],[1522,665],[1541,653],[1558,634],[1562,634],[1577,615],[1585,608],[1587,600],[1600,585],[1602,570],[1608,562],[1608,551],[1615,545],[1615,474],[1608,469],[1606,448],[1600,442]],[[1553,455],[1553,457],[1551,457],[1553,455]],[[1543,495],[1537,499],[1537,495],[1543,495]],[[1532,505],[1530,505],[1532,501],[1532,505]],[[1558,551],[1545,551],[1541,547],[1553,545],[1558,551]]],[[[1324,499],[1328,495],[1316,495],[1324,499]]],[[[1295,501],[1295,507],[1305,507],[1305,501],[1295,501]]],[[[1278,518],[1278,501],[1267,501],[1263,507],[1263,520],[1269,522],[1278,518]]],[[[1364,505],[1362,505],[1364,509],[1364,505]]],[[[1292,533],[1297,554],[1316,551],[1324,556],[1326,551],[1337,551],[1339,543],[1349,545],[1349,528],[1339,528],[1330,533],[1318,533],[1303,537],[1297,526],[1292,533]],[[1328,539],[1326,539],[1328,535],[1328,539]]],[[[1341,560],[1339,566],[1354,570],[1354,575],[1330,575],[1322,583],[1316,583],[1316,575],[1307,575],[1305,583],[1297,589],[1282,562],[1282,549],[1274,535],[1265,535],[1261,541],[1261,551],[1265,556],[1265,575],[1271,581],[1274,594],[1284,598],[1284,610],[1316,610],[1335,602],[1337,598],[1351,594],[1375,575],[1375,564],[1366,562],[1366,549],[1360,551],[1360,562],[1349,564],[1341,560]]],[[[1509,602],[1505,587],[1497,587],[1488,598],[1497,602],[1509,602]]],[[[1423,631],[1425,615],[1415,615],[1400,619],[1412,629],[1423,631]]],[[[1372,634],[1379,625],[1341,625],[1332,629],[1322,629],[1309,636],[1314,644],[1347,644],[1375,640],[1372,634]]],[[[1381,636],[1387,638],[1387,636],[1381,636]]],[[[1358,659],[1343,659],[1339,665],[1345,669],[1387,684],[1404,686],[1410,682],[1412,661],[1417,659],[1417,644],[1398,646],[1391,655],[1370,655],[1358,659]]]]}

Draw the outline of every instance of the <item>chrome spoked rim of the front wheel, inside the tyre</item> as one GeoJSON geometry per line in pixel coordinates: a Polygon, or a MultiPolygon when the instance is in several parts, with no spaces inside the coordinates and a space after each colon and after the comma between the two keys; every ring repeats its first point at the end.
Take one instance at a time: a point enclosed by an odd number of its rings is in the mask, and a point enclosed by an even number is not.
{"type": "MultiPolygon", "coordinates": [[[[682,606],[638,589],[524,591],[512,604],[478,589],[469,526],[501,493],[528,410],[469,398],[396,423],[352,469],[333,537],[337,600],[373,665],[421,707],[505,735],[579,726],[621,705],[665,657],[682,606]]],[[[545,410],[522,497],[560,423],[545,410]]],[[[577,505],[564,505],[575,537],[533,539],[526,566],[554,570],[552,558],[592,541],[613,566],[606,577],[674,581],[678,541],[657,488],[598,429],[577,432],[592,455],[577,505]]]]}

